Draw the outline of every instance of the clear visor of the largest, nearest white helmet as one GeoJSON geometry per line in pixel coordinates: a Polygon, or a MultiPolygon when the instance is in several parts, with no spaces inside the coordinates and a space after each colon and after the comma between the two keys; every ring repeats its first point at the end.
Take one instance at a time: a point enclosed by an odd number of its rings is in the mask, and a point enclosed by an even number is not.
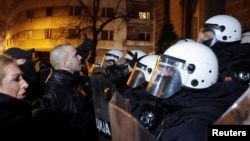
{"type": "Polygon", "coordinates": [[[174,95],[183,86],[179,69],[185,69],[185,61],[162,56],[146,88],[147,92],[163,99],[174,95]]]}

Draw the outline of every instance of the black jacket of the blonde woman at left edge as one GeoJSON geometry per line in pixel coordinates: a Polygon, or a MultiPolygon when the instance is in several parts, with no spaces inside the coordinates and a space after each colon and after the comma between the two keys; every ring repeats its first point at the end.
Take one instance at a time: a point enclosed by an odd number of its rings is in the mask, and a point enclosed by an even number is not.
{"type": "Polygon", "coordinates": [[[1,140],[47,140],[42,126],[32,117],[29,104],[0,93],[1,140]]]}

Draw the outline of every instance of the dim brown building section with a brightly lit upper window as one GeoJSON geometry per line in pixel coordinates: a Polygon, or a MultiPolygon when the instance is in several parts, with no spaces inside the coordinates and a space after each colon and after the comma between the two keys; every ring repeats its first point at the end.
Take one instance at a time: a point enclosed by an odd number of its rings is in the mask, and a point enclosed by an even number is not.
{"type": "Polygon", "coordinates": [[[129,20],[125,48],[154,50],[154,0],[127,0],[129,20]]]}

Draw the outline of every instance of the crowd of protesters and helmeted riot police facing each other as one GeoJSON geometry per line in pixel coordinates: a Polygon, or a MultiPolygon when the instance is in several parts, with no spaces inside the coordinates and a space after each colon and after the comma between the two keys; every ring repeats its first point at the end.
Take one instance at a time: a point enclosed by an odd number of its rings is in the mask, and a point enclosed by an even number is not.
{"type": "Polygon", "coordinates": [[[91,76],[101,73],[157,140],[207,141],[208,126],[249,87],[248,36],[233,16],[216,15],[197,40],[180,39],[163,54],[112,49],[104,54],[104,71],[92,74],[83,65],[96,44],[86,37],[79,47],[56,45],[46,71],[35,69],[34,49],[10,48],[0,55],[1,135],[112,140],[101,139],[96,125],[91,76]]]}

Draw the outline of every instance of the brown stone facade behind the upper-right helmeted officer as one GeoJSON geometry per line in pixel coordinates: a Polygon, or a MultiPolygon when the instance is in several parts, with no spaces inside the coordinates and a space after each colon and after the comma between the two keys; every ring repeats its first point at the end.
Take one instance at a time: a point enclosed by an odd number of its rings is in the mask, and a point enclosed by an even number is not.
{"type": "Polygon", "coordinates": [[[203,23],[217,14],[234,16],[240,21],[242,30],[250,29],[248,0],[156,0],[155,4],[156,41],[159,39],[162,23],[166,20],[163,15],[168,13],[179,38],[196,40],[203,23]],[[166,6],[166,3],[169,3],[169,6],[166,6]]]}

